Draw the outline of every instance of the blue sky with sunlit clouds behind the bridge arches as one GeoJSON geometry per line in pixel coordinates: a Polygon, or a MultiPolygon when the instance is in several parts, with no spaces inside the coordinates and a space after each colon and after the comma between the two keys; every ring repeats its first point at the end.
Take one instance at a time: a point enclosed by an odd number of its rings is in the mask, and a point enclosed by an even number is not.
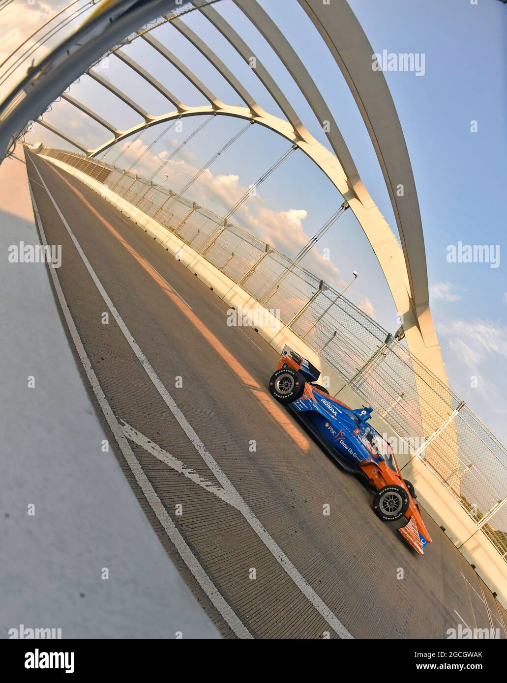
{"type": "MultiPolygon", "coordinates": [[[[0,61],[2,54],[13,49],[64,4],[36,1],[27,8],[24,0],[14,0],[0,14],[0,23],[8,29],[0,48],[0,61]],[[20,8],[23,8],[23,28],[18,21],[20,8]]],[[[81,0],[77,7],[85,4],[81,0]]],[[[260,0],[260,4],[297,48],[340,125],[361,179],[397,235],[392,206],[370,137],[325,44],[296,0],[260,0]]],[[[424,75],[386,71],[385,78],[405,134],[417,187],[430,307],[450,386],[505,442],[507,277],[503,259],[507,249],[507,7],[499,0],[446,0],[445,3],[441,0],[384,0],[382,3],[349,0],[349,4],[375,52],[424,55],[424,75]],[[471,122],[476,122],[476,132],[475,129],[472,132],[471,122]],[[458,242],[493,245],[492,253],[499,255],[498,267],[492,268],[489,263],[448,262],[448,250],[458,242]]],[[[232,0],[222,0],[215,4],[215,9],[250,44],[310,133],[329,148],[319,122],[297,85],[256,29],[232,0]]],[[[266,111],[283,116],[252,70],[205,18],[192,12],[184,21],[208,42],[266,111]]],[[[241,104],[234,90],[174,27],[159,27],[154,36],[205,81],[219,99],[228,104],[241,104]]],[[[44,49],[36,54],[40,57],[44,49]]],[[[124,48],[124,52],[185,104],[206,104],[195,87],[145,42],[137,40],[124,48]]],[[[174,109],[117,57],[109,57],[96,70],[141,102],[150,113],[174,109]]],[[[118,102],[90,76],[82,76],[79,83],[71,86],[70,94],[122,130],[141,121],[139,115],[118,102]]],[[[90,122],[67,102],[55,102],[44,119],[67,130],[88,148],[96,148],[110,137],[107,130],[90,122]]],[[[137,173],[151,175],[203,121],[201,117],[186,119],[179,132],[173,126],[143,156],[135,167],[137,173]]],[[[169,180],[165,186],[180,189],[244,125],[241,120],[215,117],[167,164],[156,180],[164,180],[163,174],[167,173],[169,180]]],[[[131,165],[164,128],[167,124],[143,133],[118,165],[131,165]]],[[[28,139],[72,149],[38,125],[28,139]]],[[[225,214],[289,146],[288,141],[275,133],[261,126],[250,126],[187,194],[203,206],[225,214]]],[[[113,161],[120,151],[119,145],[115,146],[106,160],[113,161]]],[[[341,203],[342,197],[331,182],[298,150],[260,186],[256,197],[251,197],[234,215],[234,221],[294,256],[341,203]]],[[[398,329],[398,313],[382,270],[351,211],[345,212],[329,229],[303,265],[336,287],[348,283],[352,271],[357,270],[359,277],[347,296],[387,330],[398,329]],[[325,249],[329,249],[329,261],[323,259],[325,249]]]]}

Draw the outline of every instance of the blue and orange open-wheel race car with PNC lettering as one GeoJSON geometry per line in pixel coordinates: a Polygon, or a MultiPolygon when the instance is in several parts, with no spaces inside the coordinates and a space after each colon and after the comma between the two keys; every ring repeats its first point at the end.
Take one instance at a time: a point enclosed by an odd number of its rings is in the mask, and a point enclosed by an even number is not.
{"type": "Polygon", "coordinates": [[[317,368],[285,346],[269,380],[271,395],[303,422],[316,441],[347,472],[375,491],[373,510],[384,522],[407,519],[398,531],[423,555],[431,538],[415,502],[411,482],[403,479],[389,443],[368,424],[373,408],[353,410],[318,385],[317,368]]]}

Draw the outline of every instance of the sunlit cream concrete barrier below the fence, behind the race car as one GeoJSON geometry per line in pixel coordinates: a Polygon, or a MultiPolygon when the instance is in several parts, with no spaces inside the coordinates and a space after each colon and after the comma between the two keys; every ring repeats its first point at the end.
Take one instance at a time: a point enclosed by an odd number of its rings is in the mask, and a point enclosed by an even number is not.
{"type": "MultiPolygon", "coordinates": [[[[110,190],[105,191],[105,186],[102,183],[90,178],[82,171],[78,171],[55,158],[42,154],[39,156],[67,171],[102,195],[110,204],[113,204],[160,242],[169,253],[184,266],[187,266],[192,273],[195,273],[231,309],[241,311],[246,320],[263,321],[261,324],[255,325],[259,335],[277,351],[282,352],[284,346],[288,344],[310,363],[313,363],[320,370],[321,378],[329,378],[327,388],[332,396],[356,408],[365,404],[364,399],[346,385],[346,382],[335,373],[331,366],[320,359],[316,352],[307,346],[300,337],[273,316],[273,313],[265,309],[246,290],[237,285],[234,280],[213,266],[195,249],[176,237],[169,229],[143,214],[139,208],[129,204],[119,195],[110,190]]],[[[394,438],[398,443],[400,442],[400,435],[380,415],[372,413],[370,423],[380,434],[385,434],[387,438],[394,438]]],[[[409,479],[417,490],[417,502],[443,529],[465,559],[475,566],[482,581],[497,594],[497,599],[507,609],[507,564],[502,556],[495,550],[487,536],[480,529],[477,529],[474,521],[463,510],[463,507],[452,497],[438,477],[428,469],[422,460],[407,455],[397,455],[396,459],[400,469],[402,469],[403,477],[409,479]]]]}

